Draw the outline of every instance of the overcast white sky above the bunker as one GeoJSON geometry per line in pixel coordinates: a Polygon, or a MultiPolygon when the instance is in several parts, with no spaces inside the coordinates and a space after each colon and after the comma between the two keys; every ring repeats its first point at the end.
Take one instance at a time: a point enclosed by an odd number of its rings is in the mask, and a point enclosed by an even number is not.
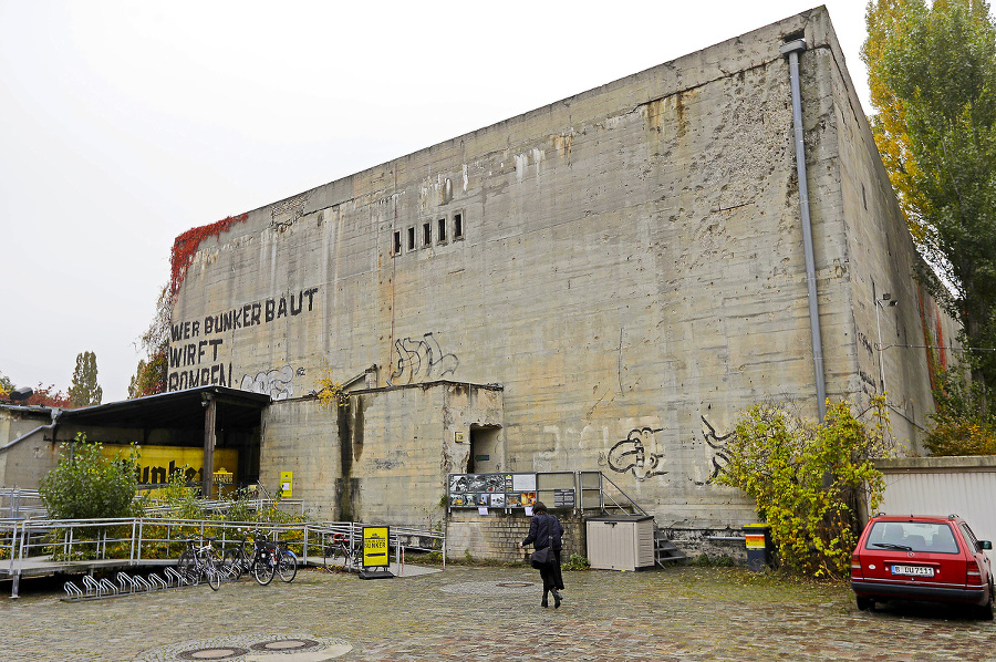
{"type": "Polygon", "coordinates": [[[185,230],[819,3],[0,0],[0,373],[124,400],[185,230]]]}

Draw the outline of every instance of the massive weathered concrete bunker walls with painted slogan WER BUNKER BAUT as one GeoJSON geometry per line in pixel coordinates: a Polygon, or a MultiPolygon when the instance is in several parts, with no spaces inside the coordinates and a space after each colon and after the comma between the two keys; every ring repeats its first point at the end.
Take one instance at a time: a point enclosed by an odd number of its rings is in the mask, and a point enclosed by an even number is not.
{"type": "Polygon", "coordinates": [[[302,472],[294,497],[340,506],[335,480],[385,480],[350,497],[357,519],[430,507],[467,469],[449,435],[487,430],[489,469],[602,469],[662,526],[753,520],[710,483],[737,412],[774,396],[817,415],[780,52],[798,39],[828,396],[861,405],[884,384],[893,434],[919,449],[926,353],[880,348],[953,327],[912,278],[824,8],[201,232],[177,280],[169,390],[269,393],[261,476],[302,472]],[[885,293],[900,304],[875,306],[885,293]],[[349,476],[340,414],[307,397],[323,370],[383,390],[349,476]],[[426,421],[433,399],[402,387],[440,380],[500,385],[501,421],[426,421]],[[411,501],[413,467],[432,500],[411,501]]]}

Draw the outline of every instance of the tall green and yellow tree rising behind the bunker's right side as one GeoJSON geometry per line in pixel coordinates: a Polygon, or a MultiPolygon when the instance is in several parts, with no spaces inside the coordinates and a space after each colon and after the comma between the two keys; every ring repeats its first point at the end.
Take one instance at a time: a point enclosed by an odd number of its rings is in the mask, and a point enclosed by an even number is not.
{"type": "MultiPolygon", "coordinates": [[[[963,342],[996,346],[996,27],[985,0],[868,6],[875,139],[917,247],[940,273],[922,282],[962,322],[963,342]]],[[[996,385],[996,354],[972,353],[996,385]]]]}

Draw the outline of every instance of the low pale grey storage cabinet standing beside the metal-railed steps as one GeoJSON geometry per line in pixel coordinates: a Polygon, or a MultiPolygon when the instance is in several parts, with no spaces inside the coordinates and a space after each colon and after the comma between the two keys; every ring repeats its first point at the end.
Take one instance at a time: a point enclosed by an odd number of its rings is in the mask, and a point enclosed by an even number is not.
{"type": "Polygon", "coordinates": [[[587,520],[588,560],[600,570],[654,567],[654,518],[603,515],[587,520]]]}

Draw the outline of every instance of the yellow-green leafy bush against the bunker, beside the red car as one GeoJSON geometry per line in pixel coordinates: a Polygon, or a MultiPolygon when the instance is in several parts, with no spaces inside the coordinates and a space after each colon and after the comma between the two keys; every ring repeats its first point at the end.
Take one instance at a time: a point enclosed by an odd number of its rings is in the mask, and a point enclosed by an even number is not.
{"type": "Polygon", "coordinates": [[[848,403],[823,423],[765,403],[743,412],[726,442],[729,463],[716,482],[739,487],[766,519],[782,567],[813,577],[848,572],[861,534],[861,507],[874,510],[885,488],[873,458],[891,453],[883,401],[859,421],[848,403]]]}

